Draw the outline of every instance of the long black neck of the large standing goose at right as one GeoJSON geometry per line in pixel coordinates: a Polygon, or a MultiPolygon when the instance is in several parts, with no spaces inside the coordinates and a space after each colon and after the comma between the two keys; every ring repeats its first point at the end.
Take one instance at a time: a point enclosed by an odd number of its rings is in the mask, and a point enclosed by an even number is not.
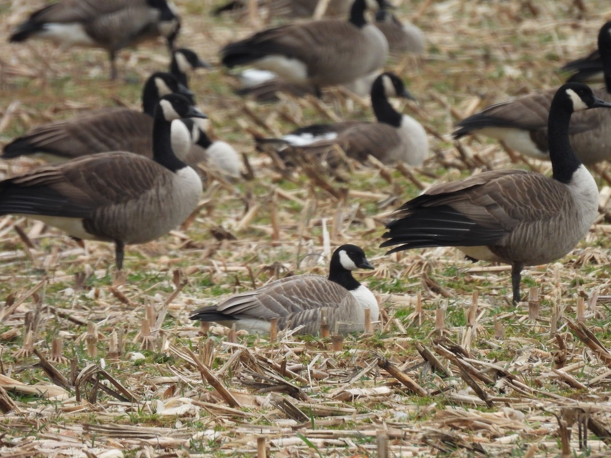
{"type": "Polygon", "coordinates": [[[566,94],[558,93],[552,100],[547,121],[547,141],[549,158],[552,161],[552,177],[561,183],[568,184],[581,162],[575,156],[569,142],[569,123],[573,107],[569,106],[566,94]]]}

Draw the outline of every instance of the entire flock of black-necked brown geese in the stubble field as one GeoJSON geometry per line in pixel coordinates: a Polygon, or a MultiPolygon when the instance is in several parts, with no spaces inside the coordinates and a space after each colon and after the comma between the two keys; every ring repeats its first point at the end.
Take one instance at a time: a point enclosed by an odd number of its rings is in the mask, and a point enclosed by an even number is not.
{"type": "MultiPolygon", "coordinates": [[[[383,71],[389,53],[422,53],[422,32],[402,24],[386,0],[266,0],[260,7],[300,20],[228,43],[225,67],[265,70],[265,81],[240,92],[270,101],[279,92],[313,93],[333,85],[364,84],[375,122],[310,125],[281,139],[257,139],[295,156],[328,159],[340,147],[367,163],[422,165],[429,150],[425,129],[401,114],[389,98],[412,98],[403,81],[383,71]],[[321,10],[322,5],[322,10],[321,10]],[[368,21],[370,10],[375,21],[368,21]],[[347,19],[346,19],[347,18],[347,19]],[[268,73],[273,72],[273,73],[268,73]]],[[[214,14],[247,8],[235,0],[214,14]]],[[[208,161],[238,178],[240,157],[227,143],[212,141],[206,116],[188,89],[188,74],[210,65],[175,48],[180,16],[169,0],[61,0],[33,12],[10,42],[46,38],[60,46],[96,46],[115,56],[142,40],[164,37],[172,54],[169,72],[148,78],[142,111],[103,108],[40,125],[5,145],[2,158],[42,158],[35,167],[0,181],[0,215],[42,220],[73,238],[112,242],[122,269],[125,245],[152,241],[181,224],[196,209],[202,180],[193,169],[208,161]]],[[[558,89],[496,104],[458,123],[453,136],[490,136],[508,147],[552,163],[552,176],[527,170],[493,170],[436,184],[393,213],[381,247],[388,253],[452,246],[467,258],[511,265],[513,301],[520,301],[525,266],[549,263],[570,252],[598,214],[598,187],[585,168],[611,153],[611,22],[598,37],[598,52],[567,64],[574,75],[558,89]],[[602,72],[606,87],[590,89],[602,72]],[[395,246],[396,245],[396,246],[395,246]]],[[[356,86],[353,86],[356,87],[356,86]]],[[[338,247],[329,275],[296,275],[203,307],[191,319],[218,322],[249,332],[279,329],[315,334],[326,317],[338,333],[363,330],[365,310],[378,319],[378,302],[352,275],[373,269],[355,245],[338,247]]]]}

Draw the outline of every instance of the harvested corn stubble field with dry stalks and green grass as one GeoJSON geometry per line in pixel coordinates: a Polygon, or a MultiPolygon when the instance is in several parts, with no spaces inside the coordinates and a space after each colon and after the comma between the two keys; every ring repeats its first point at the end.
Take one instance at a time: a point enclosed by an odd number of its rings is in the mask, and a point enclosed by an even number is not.
{"type": "MultiPolygon", "coordinates": [[[[384,256],[378,245],[390,211],[432,183],[475,170],[550,172],[483,138],[457,148],[452,125],[490,103],[558,85],[557,68],[595,48],[611,7],[398,3],[398,15],[428,39],[423,57],[387,65],[418,99],[400,107],[430,133],[424,167],[280,173],[254,150],[252,133],[371,119],[367,98],[328,89],[324,103],[285,97],[257,105],[234,95],[238,83],[216,65],[193,76],[191,88],[213,136],[246,154],[254,178],[230,183],[203,172],[194,218],[126,249],[125,284],[113,280],[111,244],[83,249],[41,223],[0,218],[1,456],[610,453],[608,164],[596,175],[595,226],[559,263],[525,269],[522,292],[530,287],[532,300],[517,308],[508,266],[472,264],[454,249],[384,256]],[[284,333],[273,342],[217,326],[206,334],[189,321],[190,311],[273,278],[325,274],[328,260],[312,256],[324,231],[332,247],[360,245],[376,266],[357,272],[381,304],[372,333],[347,336],[338,349],[284,333]]],[[[178,43],[218,64],[220,46],[255,26],[211,18],[214,4],[177,0],[178,43]]],[[[142,82],[169,60],[161,41],[127,49],[120,80],[109,82],[103,51],[6,43],[38,6],[0,2],[0,145],[82,110],[139,108],[142,82]]],[[[2,162],[0,175],[34,164],[2,162]]]]}

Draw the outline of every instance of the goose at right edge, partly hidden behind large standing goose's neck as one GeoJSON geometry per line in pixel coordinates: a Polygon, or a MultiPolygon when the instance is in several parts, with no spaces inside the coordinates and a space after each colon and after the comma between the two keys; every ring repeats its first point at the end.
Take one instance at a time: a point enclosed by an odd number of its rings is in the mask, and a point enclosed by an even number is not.
{"type": "MultiPolygon", "coordinates": [[[[606,89],[594,89],[595,96],[611,101],[611,21],[598,34],[598,49],[605,65],[606,89]]],[[[482,134],[500,140],[507,147],[536,159],[549,160],[547,115],[555,90],[543,90],[513,101],[489,106],[458,123],[455,139],[482,134]]],[[[611,113],[576,113],[569,127],[569,139],[577,158],[585,165],[611,158],[611,113]]]]}

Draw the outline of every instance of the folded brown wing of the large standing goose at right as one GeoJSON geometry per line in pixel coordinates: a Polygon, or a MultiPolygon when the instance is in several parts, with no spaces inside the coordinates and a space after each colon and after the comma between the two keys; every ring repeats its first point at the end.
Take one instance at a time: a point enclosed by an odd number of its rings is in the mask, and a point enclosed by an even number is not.
{"type": "Polygon", "coordinates": [[[562,184],[538,173],[498,170],[431,187],[405,203],[382,237],[396,252],[418,247],[502,245],[505,237],[563,211],[562,184]],[[542,196],[554,198],[546,198],[542,196]]]}

